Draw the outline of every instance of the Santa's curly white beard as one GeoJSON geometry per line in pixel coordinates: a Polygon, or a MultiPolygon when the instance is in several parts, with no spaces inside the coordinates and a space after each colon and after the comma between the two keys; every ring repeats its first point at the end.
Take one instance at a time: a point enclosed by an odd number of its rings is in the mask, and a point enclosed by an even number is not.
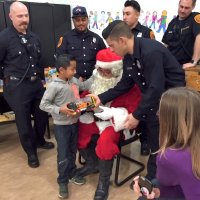
{"type": "Polygon", "coordinates": [[[110,88],[115,87],[117,83],[120,81],[121,75],[118,76],[117,78],[116,77],[105,78],[101,76],[97,70],[94,70],[93,72],[94,82],[91,85],[90,92],[98,95],[107,91],[110,88]]]}

